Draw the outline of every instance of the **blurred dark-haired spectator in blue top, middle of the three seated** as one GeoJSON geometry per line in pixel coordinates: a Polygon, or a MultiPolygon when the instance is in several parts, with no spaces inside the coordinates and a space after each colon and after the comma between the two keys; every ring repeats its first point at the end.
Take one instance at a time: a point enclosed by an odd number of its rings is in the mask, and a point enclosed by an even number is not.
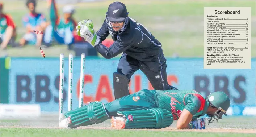
{"type": "Polygon", "coordinates": [[[25,44],[41,46],[43,35],[36,35],[33,30],[43,31],[46,28],[46,18],[35,11],[37,3],[35,0],[28,0],[26,6],[29,14],[23,18],[23,25],[26,27],[26,34],[20,40],[21,46],[25,44]]]}

